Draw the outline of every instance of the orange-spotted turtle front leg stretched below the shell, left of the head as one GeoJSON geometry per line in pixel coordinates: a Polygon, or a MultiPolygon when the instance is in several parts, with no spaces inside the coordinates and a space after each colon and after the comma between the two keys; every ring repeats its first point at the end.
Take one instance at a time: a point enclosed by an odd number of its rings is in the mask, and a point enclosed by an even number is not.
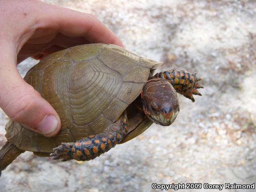
{"type": "Polygon", "coordinates": [[[109,151],[125,136],[127,132],[128,120],[124,112],[119,120],[109,126],[104,132],[98,135],[88,136],[75,143],[62,143],[54,148],[54,153],[50,154],[53,159],[68,161],[75,159],[77,161],[89,161],[101,154],[109,151]]]}

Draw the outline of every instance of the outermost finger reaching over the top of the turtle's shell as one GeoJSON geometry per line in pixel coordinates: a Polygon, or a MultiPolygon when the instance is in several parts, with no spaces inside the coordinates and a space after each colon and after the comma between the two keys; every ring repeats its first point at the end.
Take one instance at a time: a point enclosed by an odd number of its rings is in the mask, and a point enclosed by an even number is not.
{"type": "Polygon", "coordinates": [[[49,5],[47,13],[41,14],[41,19],[45,22],[39,25],[57,25],[59,32],[69,37],[83,37],[90,43],[124,46],[104,23],[91,14],[49,5]]]}

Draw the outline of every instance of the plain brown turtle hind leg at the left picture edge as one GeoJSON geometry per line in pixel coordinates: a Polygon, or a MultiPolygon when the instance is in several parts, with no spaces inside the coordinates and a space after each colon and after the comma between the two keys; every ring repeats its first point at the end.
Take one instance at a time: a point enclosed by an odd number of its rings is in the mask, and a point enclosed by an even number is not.
{"type": "Polygon", "coordinates": [[[6,142],[0,150],[0,176],[1,171],[4,170],[11,162],[25,151],[20,150],[14,144],[6,142]]]}

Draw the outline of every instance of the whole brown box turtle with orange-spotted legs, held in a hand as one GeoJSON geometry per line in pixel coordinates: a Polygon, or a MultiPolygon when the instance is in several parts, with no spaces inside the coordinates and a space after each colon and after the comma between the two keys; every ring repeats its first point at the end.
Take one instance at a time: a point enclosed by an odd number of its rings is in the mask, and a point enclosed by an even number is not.
{"type": "Polygon", "coordinates": [[[154,122],[169,126],[180,111],[177,92],[194,102],[203,88],[196,73],[111,44],[77,45],[52,53],[27,72],[32,85],[56,110],[61,130],[45,137],[10,120],[0,150],[0,171],[19,154],[88,161],[144,132],[154,122]]]}

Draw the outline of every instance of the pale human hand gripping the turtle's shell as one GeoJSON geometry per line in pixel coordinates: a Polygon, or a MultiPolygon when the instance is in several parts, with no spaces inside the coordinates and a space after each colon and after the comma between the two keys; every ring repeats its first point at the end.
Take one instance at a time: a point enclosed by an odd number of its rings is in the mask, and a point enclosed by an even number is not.
{"type": "Polygon", "coordinates": [[[13,121],[55,136],[60,131],[60,117],[23,80],[17,64],[75,45],[123,44],[94,15],[38,0],[0,0],[0,15],[0,107],[13,121]]]}

